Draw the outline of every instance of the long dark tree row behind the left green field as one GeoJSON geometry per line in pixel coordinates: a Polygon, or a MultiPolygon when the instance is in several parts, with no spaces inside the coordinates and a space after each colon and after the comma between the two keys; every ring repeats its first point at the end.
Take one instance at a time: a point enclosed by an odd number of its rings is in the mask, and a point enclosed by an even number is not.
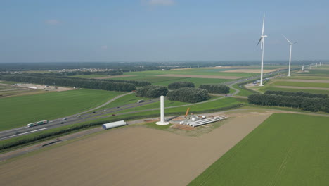
{"type": "Polygon", "coordinates": [[[127,82],[108,82],[102,80],[87,80],[79,78],[41,77],[30,75],[0,75],[0,80],[14,82],[29,82],[41,85],[59,85],[87,89],[103,89],[110,91],[131,92],[136,86],[127,82]]]}

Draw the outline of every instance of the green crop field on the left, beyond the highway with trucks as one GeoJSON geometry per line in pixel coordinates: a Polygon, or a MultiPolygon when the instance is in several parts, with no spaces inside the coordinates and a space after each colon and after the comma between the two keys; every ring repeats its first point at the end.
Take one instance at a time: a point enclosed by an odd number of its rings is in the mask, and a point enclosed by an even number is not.
{"type": "Polygon", "coordinates": [[[93,89],[25,95],[0,99],[0,130],[26,126],[39,120],[70,116],[103,104],[122,94],[93,89]]]}

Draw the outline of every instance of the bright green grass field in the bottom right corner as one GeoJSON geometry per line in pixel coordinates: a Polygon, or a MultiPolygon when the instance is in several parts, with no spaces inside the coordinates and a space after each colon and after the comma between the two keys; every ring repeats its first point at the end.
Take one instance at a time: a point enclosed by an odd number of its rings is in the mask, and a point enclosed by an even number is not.
{"type": "Polygon", "coordinates": [[[328,185],[328,120],[274,113],[189,185],[328,185]]]}

